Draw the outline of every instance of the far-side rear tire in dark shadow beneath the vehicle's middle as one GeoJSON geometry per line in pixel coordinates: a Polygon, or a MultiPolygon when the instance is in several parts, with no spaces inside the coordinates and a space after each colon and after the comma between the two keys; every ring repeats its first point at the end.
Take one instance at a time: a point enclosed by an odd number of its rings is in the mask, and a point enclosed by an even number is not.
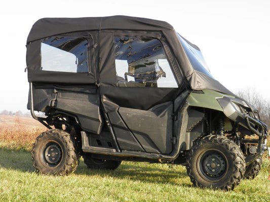
{"type": "Polygon", "coordinates": [[[85,154],[83,158],[88,168],[97,170],[115,170],[120,166],[122,162],[113,160],[94,159],[91,157],[91,154],[85,154]]]}

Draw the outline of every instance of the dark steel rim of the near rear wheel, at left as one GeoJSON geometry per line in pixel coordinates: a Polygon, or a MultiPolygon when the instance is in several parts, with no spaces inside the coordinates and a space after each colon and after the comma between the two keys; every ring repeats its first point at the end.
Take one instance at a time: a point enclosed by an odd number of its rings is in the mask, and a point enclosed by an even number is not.
{"type": "Polygon", "coordinates": [[[62,147],[55,141],[50,141],[44,144],[41,148],[41,162],[45,167],[55,168],[62,160],[62,147]]]}

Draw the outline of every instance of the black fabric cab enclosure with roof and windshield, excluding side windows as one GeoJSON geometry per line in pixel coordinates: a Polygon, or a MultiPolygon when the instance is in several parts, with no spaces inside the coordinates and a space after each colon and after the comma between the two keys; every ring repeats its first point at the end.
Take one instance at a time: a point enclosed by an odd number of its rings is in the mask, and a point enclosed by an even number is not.
{"type": "MultiPolygon", "coordinates": [[[[178,84],[185,80],[192,89],[213,89],[232,94],[215,80],[210,73],[204,71],[204,65],[201,62],[202,58],[198,59],[194,54],[194,51],[199,53],[200,49],[177,34],[170,24],[158,20],[129,16],[43,18],[38,20],[32,26],[27,38],[28,80],[30,82],[57,81],[59,83],[115,85],[115,80],[111,80],[114,61],[111,58],[113,56],[110,54],[113,51],[110,43],[112,43],[112,37],[119,35],[119,32],[143,32],[141,34],[132,33],[129,37],[145,37],[147,35],[152,37],[156,35],[155,37],[161,39],[161,42],[164,38],[166,43],[162,44],[163,48],[166,52],[170,49],[170,54],[175,59],[175,61],[170,61],[170,65],[174,69],[174,76],[178,84]],[[43,40],[50,37],[55,39],[66,37],[66,42],[69,44],[72,43],[70,41],[73,39],[73,42],[77,42],[79,47],[83,45],[79,42],[85,39],[85,42],[88,43],[88,58],[86,59],[88,60],[86,61],[89,68],[88,72],[74,73],[65,70],[64,72],[58,71],[55,73],[50,70],[43,71],[42,53],[37,52],[37,50],[42,51],[41,46],[43,44],[46,46],[46,41],[43,40]],[[71,37],[71,39],[68,37],[71,37]],[[97,63],[97,61],[100,61],[100,63],[97,63]]],[[[50,40],[52,41],[51,38],[50,40]]],[[[74,57],[80,58],[76,54],[74,54],[74,57]]],[[[167,57],[169,59],[170,56],[167,55],[167,57]]]]}

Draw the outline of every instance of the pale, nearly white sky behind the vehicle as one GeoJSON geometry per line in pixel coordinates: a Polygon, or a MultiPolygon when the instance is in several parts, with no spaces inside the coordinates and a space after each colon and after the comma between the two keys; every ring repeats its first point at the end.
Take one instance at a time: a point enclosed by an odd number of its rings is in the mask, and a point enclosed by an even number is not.
{"type": "Polygon", "coordinates": [[[26,39],[44,17],[128,15],[170,23],[200,47],[211,74],[233,92],[253,88],[270,100],[270,1],[8,1],[0,8],[0,112],[27,112],[26,39]]]}

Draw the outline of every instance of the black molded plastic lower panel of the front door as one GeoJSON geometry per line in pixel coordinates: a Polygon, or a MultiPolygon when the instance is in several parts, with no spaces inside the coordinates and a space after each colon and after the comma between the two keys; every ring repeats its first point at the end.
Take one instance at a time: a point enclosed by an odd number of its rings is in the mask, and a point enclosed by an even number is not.
{"type": "Polygon", "coordinates": [[[172,151],[173,102],[147,111],[120,108],[119,114],[147,153],[169,154],[172,151]]]}

